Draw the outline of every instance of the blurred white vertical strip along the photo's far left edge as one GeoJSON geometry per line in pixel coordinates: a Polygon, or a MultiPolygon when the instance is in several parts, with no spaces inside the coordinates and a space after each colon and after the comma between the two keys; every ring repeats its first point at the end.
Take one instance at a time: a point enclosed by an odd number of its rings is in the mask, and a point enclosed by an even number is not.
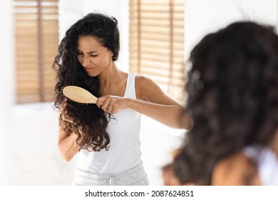
{"type": "Polygon", "coordinates": [[[14,137],[11,107],[14,104],[14,41],[11,1],[0,3],[0,60],[1,60],[1,99],[0,99],[0,185],[11,184],[13,169],[14,137]]]}

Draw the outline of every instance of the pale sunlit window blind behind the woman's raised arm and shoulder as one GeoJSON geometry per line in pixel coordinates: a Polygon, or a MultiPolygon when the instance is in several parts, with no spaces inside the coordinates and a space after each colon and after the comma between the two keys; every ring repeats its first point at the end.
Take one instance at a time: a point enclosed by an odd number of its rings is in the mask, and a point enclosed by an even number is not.
{"type": "Polygon", "coordinates": [[[184,0],[130,0],[130,72],[184,104],[184,0]]]}

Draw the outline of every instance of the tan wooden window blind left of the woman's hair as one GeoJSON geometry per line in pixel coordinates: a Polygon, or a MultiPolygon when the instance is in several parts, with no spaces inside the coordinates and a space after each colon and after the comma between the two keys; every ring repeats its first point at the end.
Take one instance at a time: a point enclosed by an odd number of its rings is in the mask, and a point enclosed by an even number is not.
{"type": "Polygon", "coordinates": [[[17,103],[52,101],[58,46],[58,0],[15,0],[17,103]]]}

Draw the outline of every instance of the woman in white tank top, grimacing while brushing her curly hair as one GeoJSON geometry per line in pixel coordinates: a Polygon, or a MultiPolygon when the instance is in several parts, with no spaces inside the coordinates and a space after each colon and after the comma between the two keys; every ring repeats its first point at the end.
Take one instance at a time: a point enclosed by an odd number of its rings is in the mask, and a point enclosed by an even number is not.
{"type": "MultiPolygon", "coordinates": [[[[66,31],[53,64],[60,109],[58,148],[67,161],[78,154],[77,185],[148,185],[141,161],[140,114],[178,129],[191,119],[182,106],[144,76],[120,71],[118,21],[88,14],[66,31]],[[64,99],[63,87],[81,86],[96,105],[64,99]]],[[[155,141],[154,141],[155,142],[155,141]]]]}

